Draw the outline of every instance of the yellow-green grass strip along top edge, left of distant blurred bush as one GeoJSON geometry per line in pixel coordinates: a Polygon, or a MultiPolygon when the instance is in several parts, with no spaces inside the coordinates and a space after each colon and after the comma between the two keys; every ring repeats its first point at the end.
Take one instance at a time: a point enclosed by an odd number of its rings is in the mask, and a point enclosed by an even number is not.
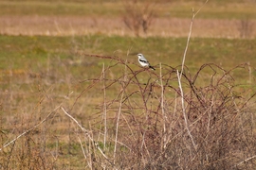
{"type": "Polygon", "coordinates": [[[0,1],[1,15],[46,15],[46,16],[115,16],[121,12],[120,4],[76,3],[41,1],[0,1]]]}

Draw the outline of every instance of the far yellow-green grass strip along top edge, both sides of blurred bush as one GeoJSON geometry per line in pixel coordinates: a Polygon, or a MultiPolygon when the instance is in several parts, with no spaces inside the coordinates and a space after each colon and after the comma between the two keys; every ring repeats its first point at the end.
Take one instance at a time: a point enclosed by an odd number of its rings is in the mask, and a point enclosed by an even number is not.
{"type": "MultiPolygon", "coordinates": [[[[158,2],[154,5],[157,17],[191,18],[192,8],[197,10],[203,1],[158,2]]],[[[0,1],[0,15],[44,15],[44,16],[104,16],[121,17],[123,15],[121,1],[0,1]]],[[[198,18],[215,19],[255,19],[256,9],[253,2],[244,1],[210,1],[198,18]]]]}

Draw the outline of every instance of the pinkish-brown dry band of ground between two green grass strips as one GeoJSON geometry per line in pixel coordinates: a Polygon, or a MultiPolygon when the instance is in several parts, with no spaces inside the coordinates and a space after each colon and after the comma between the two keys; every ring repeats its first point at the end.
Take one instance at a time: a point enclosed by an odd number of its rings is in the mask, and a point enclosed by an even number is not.
{"type": "MultiPolygon", "coordinates": [[[[255,20],[249,20],[249,26],[256,26],[255,20]]],[[[187,37],[191,19],[157,18],[150,26],[147,35],[163,37],[187,37]]],[[[220,19],[195,19],[192,27],[193,37],[240,38],[241,21],[220,19]]],[[[122,19],[104,17],[52,17],[52,16],[1,16],[0,33],[8,35],[129,35],[133,32],[122,19]]],[[[249,31],[249,38],[256,37],[256,31],[249,31]]]]}

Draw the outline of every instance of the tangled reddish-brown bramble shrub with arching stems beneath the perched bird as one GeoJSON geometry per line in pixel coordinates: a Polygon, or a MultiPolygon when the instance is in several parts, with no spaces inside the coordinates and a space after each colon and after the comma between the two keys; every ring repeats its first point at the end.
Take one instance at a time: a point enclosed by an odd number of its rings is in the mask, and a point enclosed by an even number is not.
{"type": "MultiPolygon", "coordinates": [[[[181,105],[182,95],[177,85],[177,68],[161,66],[159,76],[157,71],[144,68],[135,71],[127,62],[117,60],[118,65],[125,67],[122,76],[99,79],[99,83],[103,81],[106,84],[104,91],[115,87],[119,92],[106,102],[105,110],[102,107],[104,104],[101,105],[101,113],[106,115],[108,122],[105,125],[108,132],[101,135],[107,135],[109,147],[117,147],[114,154],[111,149],[106,153],[106,167],[255,167],[255,93],[249,87],[235,84],[235,79],[231,76],[241,68],[246,72],[247,64],[229,71],[215,64],[204,64],[195,76],[183,74],[185,112],[188,119],[186,125],[181,105]],[[208,72],[209,78],[204,77],[204,71],[208,72]],[[111,112],[114,112],[113,116],[111,112]]],[[[114,68],[104,69],[104,75],[111,69],[114,68]]],[[[186,72],[189,73],[188,69],[186,72]]],[[[101,127],[103,126],[101,123],[101,127]]],[[[100,167],[101,161],[96,162],[97,167],[100,167]]]]}

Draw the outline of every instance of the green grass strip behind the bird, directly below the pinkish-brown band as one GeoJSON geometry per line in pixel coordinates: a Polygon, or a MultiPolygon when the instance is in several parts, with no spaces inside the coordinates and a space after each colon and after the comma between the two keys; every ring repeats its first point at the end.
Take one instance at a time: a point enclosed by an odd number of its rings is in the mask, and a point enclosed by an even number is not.
{"type": "MultiPolygon", "coordinates": [[[[137,53],[143,53],[153,65],[160,62],[173,67],[181,63],[186,38],[131,38],[119,36],[44,37],[44,36],[0,36],[1,69],[27,69],[36,64],[46,65],[47,59],[75,59],[84,61],[92,68],[101,69],[107,60],[81,57],[75,49],[87,54],[118,56],[137,63],[137,53]],[[126,56],[130,50],[130,55],[126,56]]],[[[230,69],[238,64],[256,64],[255,40],[200,39],[191,40],[186,65],[198,69],[203,63],[215,63],[230,69]]],[[[54,64],[54,63],[50,63],[54,64]]],[[[80,66],[78,66],[80,68],[80,66]]],[[[93,70],[90,70],[93,72],[93,70]]]]}

